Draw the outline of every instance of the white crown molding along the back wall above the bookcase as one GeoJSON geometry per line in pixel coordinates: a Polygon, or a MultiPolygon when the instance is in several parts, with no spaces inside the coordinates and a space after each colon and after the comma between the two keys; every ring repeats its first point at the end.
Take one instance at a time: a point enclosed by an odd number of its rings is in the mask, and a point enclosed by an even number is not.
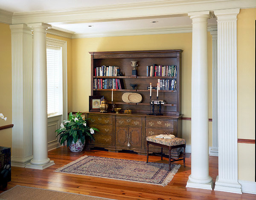
{"type": "MultiPolygon", "coordinates": [[[[208,27],[208,31],[211,29],[217,29],[217,25],[211,25],[208,27]]],[[[155,29],[133,29],[125,31],[113,31],[113,32],[96,32],[90,34],[73,34],[72,39],[77,38],[91,38],[91,37],[116,37],[116,36],[133,36],[133,35],[153,35],[153,34],[172,34],[172,33],[191,33],[192,26],[177,26],[177,27],[164,27],[155,29]]]]}

